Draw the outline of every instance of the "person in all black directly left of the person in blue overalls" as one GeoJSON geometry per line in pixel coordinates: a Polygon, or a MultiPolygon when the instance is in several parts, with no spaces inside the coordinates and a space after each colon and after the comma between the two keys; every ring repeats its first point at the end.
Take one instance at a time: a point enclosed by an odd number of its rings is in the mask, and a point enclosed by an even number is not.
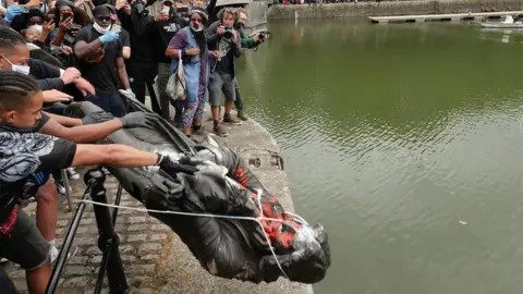
{"type": "MultiPolygon", "coordinates": [[[[169,70],[171,59],[166,57],[166,49],[174,34],[187,26],[187,22],[177,14],[173,0],[163,0],[162,9],[156,15],[155,22],[147,23],[144,28],[144,35],[148,37],[148,42],[153,45],[149,54],[158,64],[158,93],[161,117],[170,119],[169,97],[166,94],[167,82],[169,79],[169,70]]],[[[180,123],[182,110],[175,107],[175,123],[180,123]]]]}

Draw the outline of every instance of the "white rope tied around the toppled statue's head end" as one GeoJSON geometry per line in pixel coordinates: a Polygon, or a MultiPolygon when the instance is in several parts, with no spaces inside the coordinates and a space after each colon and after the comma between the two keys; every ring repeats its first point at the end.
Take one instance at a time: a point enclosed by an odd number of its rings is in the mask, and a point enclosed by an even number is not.
{"type": "MultiPolygon", "coordinates": [[[[275,257],[276,265],[278,268],[281,270],[281,273],[284,278],[289,279],[289,275],[287,275],[285,271],[280,265],[280,261],[278,260],[278,256],[275,253],[275,249],[272,248],[269,235],[267,235],[267,232],[265,232],[264,224],[262,223],[263,220],[268,220],[268,221],[278,221],[278,222],[289,222],[288,220],[280,220],[280,219],[273,219],[273,218],[266,218],[264,217],[264,207],[262,206],[262,189],[257,191],[257,205],[259,207],[260,211],[260,217],[253,218],[253,217],[240,217],[240,216],[224,216],[224,215],[210,215],[210,213],[193,213],[193,212],[183,212],[183,211],[172,211],[172,210],[157,210],[157,209],[147,209],[147,208],[138,208],[138,207],[129,207],[129,206],[121,206],[121,205],[112,205],[112,204],[102,204],[102,203],[97,203],[93,200],[86,200],[82,199],[80,200],[81,203],[85,204],[92,204],[92,205],[98,205],[98,206],[105,206],[105,207],[111,207],[111,208],[118,208],[118,209],[126,209],[126,210],[134,210],[134,211],[141,211],[141,212],[154,212],[154,213],[163,213],[163,215],[179,215],[179,216],[187,216],[187,217],[204,217],[204,218],[217,218],[217,219],[236,219],[236,220],[251,220],[255,221],[262,226],[262,232],[264,232],[265,240],[267,241],[267,244],[269,245],[270,253],[272,254],[272,257],[275,257]]],[[[296,217],[299,220],[305,222],[305,220],[297,215],[285,212],[289,215],[292,215],[296,217]]],[[[297,223],[297,222],[296,222],[297,223]]],[[[306,223],[306,222],[305,222],[306,223]]]]}

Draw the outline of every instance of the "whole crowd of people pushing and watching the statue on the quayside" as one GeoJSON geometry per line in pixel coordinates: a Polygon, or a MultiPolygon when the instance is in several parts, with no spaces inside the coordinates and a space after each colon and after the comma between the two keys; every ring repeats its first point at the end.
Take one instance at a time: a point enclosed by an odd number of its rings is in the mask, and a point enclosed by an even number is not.
{"type": "Polygon", "coordinates": [[[269,35],[247,36],[247,12],[215,12],[216,0],[207,5],[192,0],[188,8],[162,0],[155,16],[147,10],[151,4],[8,0],[0,7],[0,257],[26,270],[31,293],[45,292],[58,257],[62,169],[73,179],[80,176],[72,167],[90,164],[158,166],[170,174],[196,171],[161,154],[88,144],[121,128],[151,127],[157,117],[129,112],[127,98],[144,102],[147,90],[153,111],[188,137],[203,132],[207,100],[217,135],[227,136],[223,124],[248,120],[235,59],[269,35]],[[180,63],[184,99],[174,99],[166,88],[180,63]],[[104,111],[83,119],[64,115],[68,103],[84,100],[104,111]],[[170,106],[175,109],[172,120],[170,106]],[[23,199],[36,201],[36,222],[24,212],[23,199]]]}

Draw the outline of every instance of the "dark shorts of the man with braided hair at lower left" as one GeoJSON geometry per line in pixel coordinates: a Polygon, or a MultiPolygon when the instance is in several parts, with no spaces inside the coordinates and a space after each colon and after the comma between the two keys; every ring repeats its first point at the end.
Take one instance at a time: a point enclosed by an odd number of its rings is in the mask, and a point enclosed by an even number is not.
{"type": "Polygon", "coordinates": [[[49,259],[50,245],[22,207],[17,206],[17,210],[11,236],[0,235],[0,256],[25,270],[39,269],[49,259]]]}

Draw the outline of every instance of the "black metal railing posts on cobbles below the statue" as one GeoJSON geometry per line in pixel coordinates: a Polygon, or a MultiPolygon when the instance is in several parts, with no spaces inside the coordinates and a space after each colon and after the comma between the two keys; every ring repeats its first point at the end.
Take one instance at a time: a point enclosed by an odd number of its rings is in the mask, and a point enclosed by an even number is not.
{"type": "MultiPolygon", "coordinates": [[[[107,204],[106,188],[104,183],[106,182],[106,175],[101,171],[101,168],[96,168],[87,171],[84,176],[84,182],[86,188],[82,199],[90,199],[93,201],[107,204]]],[[[114,204],[119,205],[122,196],[122,186],[118,187],[117,197],[114,204]]],[[[58,255],[57,265],[52,270],[51,278],[47,284],[46,294],[54,293],[58,287],[60,280],[60,274],[65,266],[66,256],[73,244],[74,235],[78,229],[80,221],[85,210],[85,203],[80,203],[74,211],[73,218],[68,228],[68,234],[62,245],[62,249],[58,255]]],[[[101,258],[100,269],[98,271],[98,277],[96,280],[95,293],[101,292],[101,284],[104,282],[104,275],[107,270],[107,279],[109,282],[109,292],[110,293],[127,293],[129,285],[125,279],[125,272],[123,271],[123,264],[120,257],[120,252],[118,246],[120,244],[120,238],[114,232],[114,223],[117,221],[118,209],[114,209],[112,213],[109,211],[109,208],[106,206],[94,206],[96,224],[98,226],[98,247],[104,253],[101,258]],[[112,215],[112,216],[111,216],[112,215]]]]}

